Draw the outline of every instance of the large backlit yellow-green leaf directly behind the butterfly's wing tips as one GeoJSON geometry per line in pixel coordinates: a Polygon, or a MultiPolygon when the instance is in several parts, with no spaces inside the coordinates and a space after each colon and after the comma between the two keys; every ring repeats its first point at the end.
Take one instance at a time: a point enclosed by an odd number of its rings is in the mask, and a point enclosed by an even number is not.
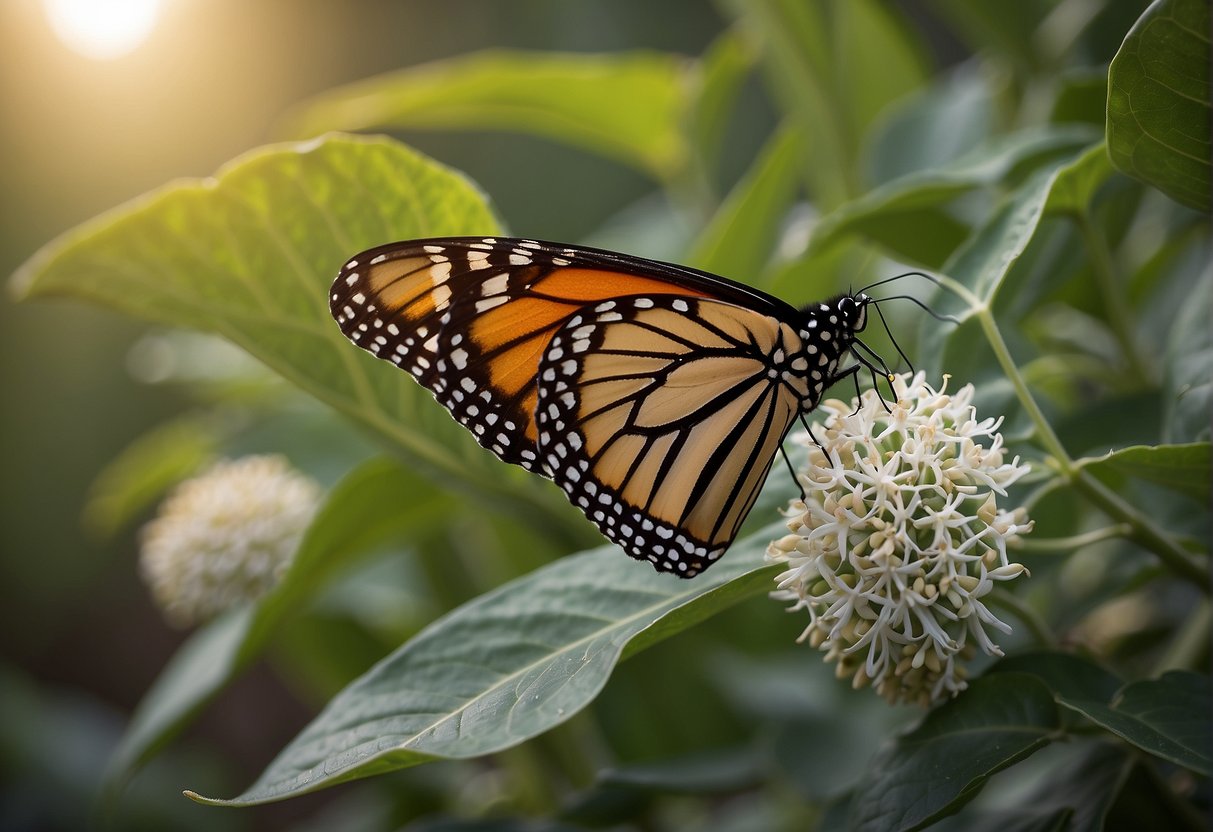
{"type": "Polygon", "coordinates": [[[256,150],[215,178],[85,223],[44,246],[13,285],[222,335],[418,469],[535,515],[537,484],[480,450],[408,374],[349,344],[329,315],[329,286],[359,251],[499,228],[459,172],[391,139],[329,136],[256,150]]]}

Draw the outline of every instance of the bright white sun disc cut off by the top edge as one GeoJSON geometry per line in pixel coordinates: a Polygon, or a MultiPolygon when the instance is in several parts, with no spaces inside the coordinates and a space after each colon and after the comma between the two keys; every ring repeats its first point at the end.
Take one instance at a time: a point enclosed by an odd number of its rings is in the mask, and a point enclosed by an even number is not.
{"type": "Polygon", "coordinates": [[[73,52],[112,61],[135,51],[155,27],[161,0],[42,0],[51,28],[73,52]]]}

